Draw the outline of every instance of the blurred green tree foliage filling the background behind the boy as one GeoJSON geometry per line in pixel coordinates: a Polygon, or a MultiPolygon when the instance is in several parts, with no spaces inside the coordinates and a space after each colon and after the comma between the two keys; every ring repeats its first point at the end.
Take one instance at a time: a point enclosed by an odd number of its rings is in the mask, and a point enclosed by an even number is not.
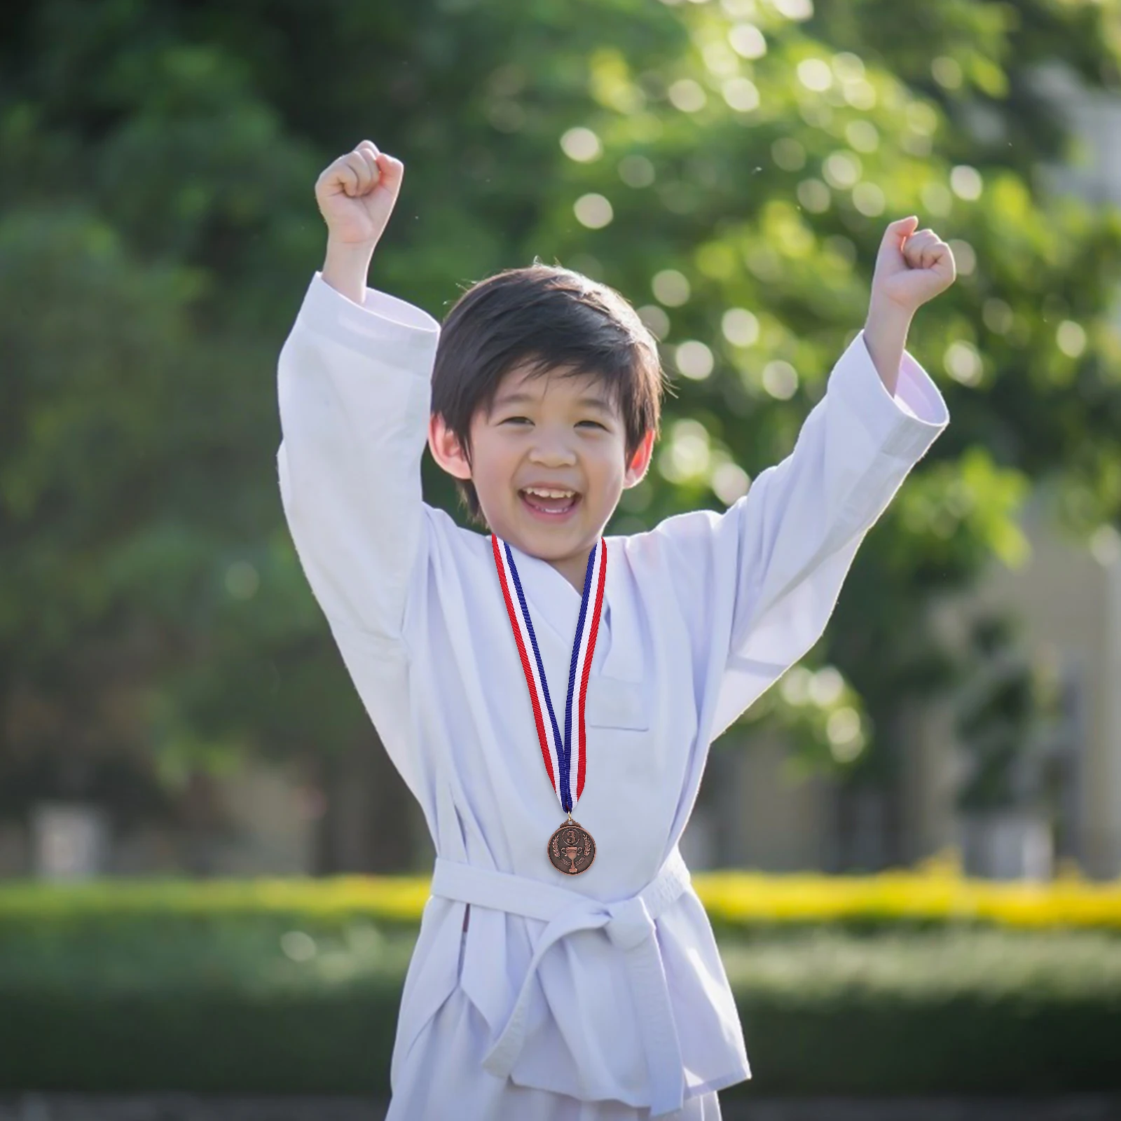
{"type": "MultiPolygon", "coordinates": [[[[19,776],[87,793],[128,759],[136,817],[149,787],[253,753],[328,788],[374,754],[365,816],[401,812],[272,460],[276,354],[322,260],[312,185],[362,137],[407,165],[372,284],[439,317],[537,256],[659,335],[676,390],[617,531],[721,508],[789,452],[888,221],[951,241],[958,284],[910,349],[954,423],[869,535],[818,687],[748,716],[816,766],[892,781],[876,729],[958,673],[929,597],[1022,557],[1034,484],[1080,531],[1121,511],[1121,223],[1048,189],[1071,140],[1036,72],[1115,93],[1115,3],[40,0],[0,29],[9,812],[19,776]]],[[[324,868],[333,844],[328,817],[324,868]]]]}

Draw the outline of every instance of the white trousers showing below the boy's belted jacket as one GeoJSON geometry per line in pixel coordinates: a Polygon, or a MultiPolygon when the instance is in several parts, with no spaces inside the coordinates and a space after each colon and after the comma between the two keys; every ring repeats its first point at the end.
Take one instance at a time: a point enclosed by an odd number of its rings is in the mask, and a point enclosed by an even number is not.
{"type": "MultiPolygon", "coordinates": [[[[483,1069],[487,1023],[456,988],[409,1053],[386,1121],[649,1121],[647,1108],[583,1102],[519,1086],[483,1069]]],[[[658,1121],[720,1121],[715,1092],[658,1121]]]]}

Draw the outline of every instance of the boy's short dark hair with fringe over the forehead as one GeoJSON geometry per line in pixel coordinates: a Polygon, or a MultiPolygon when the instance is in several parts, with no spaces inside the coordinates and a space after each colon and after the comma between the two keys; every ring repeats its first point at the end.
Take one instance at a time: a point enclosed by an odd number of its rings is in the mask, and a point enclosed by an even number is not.
{"type": "MultiPolygon", "coordinates": [[[[592,374],[619,406],[627,457],[657,435],[665,373],[658,344],[614,288],[572,269],[532,265],[480,280],[444,317],[432,374],[432,411],[469,461],[471,418],[489,409],[503,376],[592,374]]],[[[485,525],[474,483],[456,480],[471,519],[485,525]]]]}

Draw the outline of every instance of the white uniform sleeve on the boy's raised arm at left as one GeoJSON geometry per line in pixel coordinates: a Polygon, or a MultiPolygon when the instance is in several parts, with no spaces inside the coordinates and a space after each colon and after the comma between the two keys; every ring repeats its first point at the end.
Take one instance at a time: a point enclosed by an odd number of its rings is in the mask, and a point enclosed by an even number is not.
{"type": "Polygon", "coordinates": [[[339,634],[400,640],[425,524],[439,324],[368,288],[355,304],[316,272],[280,351],[280,497],[312,591],[339,634]]]}

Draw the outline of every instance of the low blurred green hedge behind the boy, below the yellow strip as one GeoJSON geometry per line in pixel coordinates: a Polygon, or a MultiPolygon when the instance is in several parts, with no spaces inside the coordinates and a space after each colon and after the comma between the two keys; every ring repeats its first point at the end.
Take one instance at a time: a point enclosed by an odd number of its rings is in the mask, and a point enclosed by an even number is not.
{"type": "MultiPolygon", "coordinates": [[[[0,1088],[386,1096],[415,928],[358,881],[240,888],[0,891],[0,1088]]],[[[756,1072],[729,1095],[1121,1090],[1109,930],[772,926],[722,954],[756,1072]]]]}

